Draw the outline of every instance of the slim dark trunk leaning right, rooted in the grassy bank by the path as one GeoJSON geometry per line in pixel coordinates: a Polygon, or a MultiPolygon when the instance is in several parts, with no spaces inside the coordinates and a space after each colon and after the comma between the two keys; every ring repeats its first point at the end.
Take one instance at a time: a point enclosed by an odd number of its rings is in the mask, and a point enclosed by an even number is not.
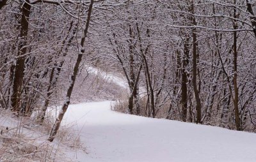
{"type": "Polygon", "coordinates": [[[75,81],[76,81],[76,76],[77,76],[77,73],[78,73],[78,70],[79,70],[79,64],[81,63],[81,60],[82,60],[82,57],[83,57],[83,54],[84,54],[84,41],[85,41],[86,35],[88,33],[88,28],[89,28],[89,24],[90,24],[91,15],[92,15],[92,7],[93,7],[93,0],[91,0],[90,6],[88,8],[86,26],[85,26],[84,33],[83,33],[83,38],[81,39],[81,43],[80,43],[81,50],[80,50],[80,52],[77,56],[76,64],[74,66],[74,70],[73,70],[73,73],[71,75],[71,81],[70,81],[70,85],[68,87],[68,91],[67,91],[67,95],[66,95],[66,101],[64,102],[64,104],[61,108],[60,114],[58,115],[58,117],[57,117],[57,119],[54,123],[54,126],[52,128],[51,135],[48,138],[48,140],[50,142],[52,142],[54,140],[54,138],[55,138],[55,136],[58,132],[58,129],[60,128],[60,124],[61,124],[61,121],[63,119],[63,116],[65,115],[65,112],[67,111],[68,105],[70,103],[70,97],[71,97],[73,87],[74,87],[74,84],[75,84],[75,81]]]}

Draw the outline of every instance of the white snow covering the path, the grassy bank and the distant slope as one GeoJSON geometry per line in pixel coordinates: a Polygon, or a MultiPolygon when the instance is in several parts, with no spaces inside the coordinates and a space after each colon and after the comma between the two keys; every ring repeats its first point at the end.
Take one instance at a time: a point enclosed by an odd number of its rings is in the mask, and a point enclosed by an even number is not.
{"type": "MultiPolygon", "coordinates": [[[[92,69],[95,70],[95,69],[92,69]]],[[[92,71],[98,73],[99,71],[92,71]]],[[[125,82],[115,75],[106,79],[119,83],[124,90],[125,82]]],[[[256,134],[203,126],[186,122],[152,119],[111,111],[114,101],[101,101],[70,105],[61,129],[73,130],[72,137],[47,141],[49,132],[33,122],[19,128],[20,121],[12,115],[0,113],[1,130],[13,129],[24,136],[15,140],[9,131],[0,135],[0,156],[4,144],[6,156],[22,157],[28,161],[81,161],[81,162],[255,162],[256,134]],[[72,127],[72,129],[69,129],[72,127]],[[72,147],[76,135],[77,145],[72,147]],[[9,138],[10,137],[10,138],[9,138]],[[6,142],[6,140],[9,140],[6,142]],[[13,142],[10,142],[13,140],[13,142]],[[5,143],[4,143],[5,141],[5,143]],[[17,143],[18,142],[18,143],[17,143]],[[20,144],[28,142],[30,145],[20,144]],[[66,143],[66,144],[65,144],[66,143]],[[28,148],[30,148],[28,151],[28,148]],[[36,148],[36,149],[33,149],[36,148]],[[49,149],[50,148],[50,149],[49,149]],[[5,150],[6,150],[5,149],[5,150]],[[26,150],[26,152],[24,152],[26,150]],[[56,154],[58,152],[58,154],[56,154]],[[47,157],[46,157],[47,156],[47,157]],[[42,158],[43,157],[43,158],[42,158]],[[46,157],[46,158],[45,158],[46,157]]],[[[58,107],[60,108],[60,107],[58,107]]],[[[58,108],[56,108],[58,110],[58,108]]],[[[49,110],[53,110],[49,108],[49,110]]],[[[56,111],[54,109],[54,111],[56,111]]],[[[54,111],[51,112],[54,119],[54,111]]],[[[57,111],[58,112],[58,111],[57,111]]],[[[49,113],[49,112],[48,112],[49,113]]],[[[76,141],[74,141],[76,142],[76,141]]],[[[1,161],[1,160],[0,160],[1,161]]]]}

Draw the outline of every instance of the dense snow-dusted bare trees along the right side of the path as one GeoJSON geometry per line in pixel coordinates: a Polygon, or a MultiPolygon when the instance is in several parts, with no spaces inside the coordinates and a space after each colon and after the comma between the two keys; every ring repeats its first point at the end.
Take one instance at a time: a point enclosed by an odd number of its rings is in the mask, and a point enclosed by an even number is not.
{"type": "Polygon", "coordinates": [[[255,3],[234,0],[109,11],[102,39],[129,83],[127,112],[255,132],[254,13],[255,3]]]}

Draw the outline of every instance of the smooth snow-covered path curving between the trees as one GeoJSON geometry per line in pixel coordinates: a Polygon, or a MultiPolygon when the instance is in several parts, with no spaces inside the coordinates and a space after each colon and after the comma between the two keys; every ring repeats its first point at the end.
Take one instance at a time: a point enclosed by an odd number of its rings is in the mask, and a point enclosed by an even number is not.
{"type": "Polygon", "coordinates": [[[111,101],[71,105],[65,122],[77,122],[86,151],[76,161],[255,162],[256,134],[120,114],[111,101]]]}

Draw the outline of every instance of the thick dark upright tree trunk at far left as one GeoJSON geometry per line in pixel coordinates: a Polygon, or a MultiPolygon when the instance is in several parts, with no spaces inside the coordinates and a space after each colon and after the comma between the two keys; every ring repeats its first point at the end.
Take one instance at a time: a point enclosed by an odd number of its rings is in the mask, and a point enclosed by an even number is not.
{"type": "Polygon", "coordinates": [[[14,78],[13,78],[13,93],[12,93],[12,110],[19,111],[20,109],[20,96],[22,92],[22,81],[24,78],[24,70],[25,70],[25,59],[26,57],[26,41],[28,37],[28,21],[30,15],[31,6],[29,1],[26,0],[22,5],[21,12],[22,17],[20,20],[20,41],[18,46],[18,55],[17,61],[15,65],[14,78]]]}

